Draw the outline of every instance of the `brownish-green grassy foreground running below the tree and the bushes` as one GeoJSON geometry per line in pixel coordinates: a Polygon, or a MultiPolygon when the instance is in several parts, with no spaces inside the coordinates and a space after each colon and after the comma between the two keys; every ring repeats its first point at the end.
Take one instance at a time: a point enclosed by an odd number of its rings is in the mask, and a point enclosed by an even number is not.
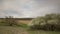
{"type": "Polygon", "coordinates": [[[28,28],[14,26],[0,26],[0,34],[60,34],[54,31],[32,31],[28,28]]]}

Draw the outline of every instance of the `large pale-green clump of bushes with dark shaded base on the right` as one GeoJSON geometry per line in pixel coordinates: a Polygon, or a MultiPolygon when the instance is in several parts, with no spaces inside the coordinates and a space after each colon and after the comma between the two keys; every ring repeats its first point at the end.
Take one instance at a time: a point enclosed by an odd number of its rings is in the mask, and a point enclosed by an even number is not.
{"type": "Polygon", "coordinates": [[[47,14],[31,21],[30,28],[34,30],[60,31],[60,14],[47,14]]]}

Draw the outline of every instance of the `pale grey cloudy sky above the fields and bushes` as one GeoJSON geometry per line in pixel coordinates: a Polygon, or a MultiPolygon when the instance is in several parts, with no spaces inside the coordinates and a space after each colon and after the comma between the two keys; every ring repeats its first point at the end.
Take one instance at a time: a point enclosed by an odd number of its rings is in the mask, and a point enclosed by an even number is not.
{"type": "Polygon", "coordinates": [[[60,0],[0,0],[0,18],[34,18],[60,13],[60,0]]]}

